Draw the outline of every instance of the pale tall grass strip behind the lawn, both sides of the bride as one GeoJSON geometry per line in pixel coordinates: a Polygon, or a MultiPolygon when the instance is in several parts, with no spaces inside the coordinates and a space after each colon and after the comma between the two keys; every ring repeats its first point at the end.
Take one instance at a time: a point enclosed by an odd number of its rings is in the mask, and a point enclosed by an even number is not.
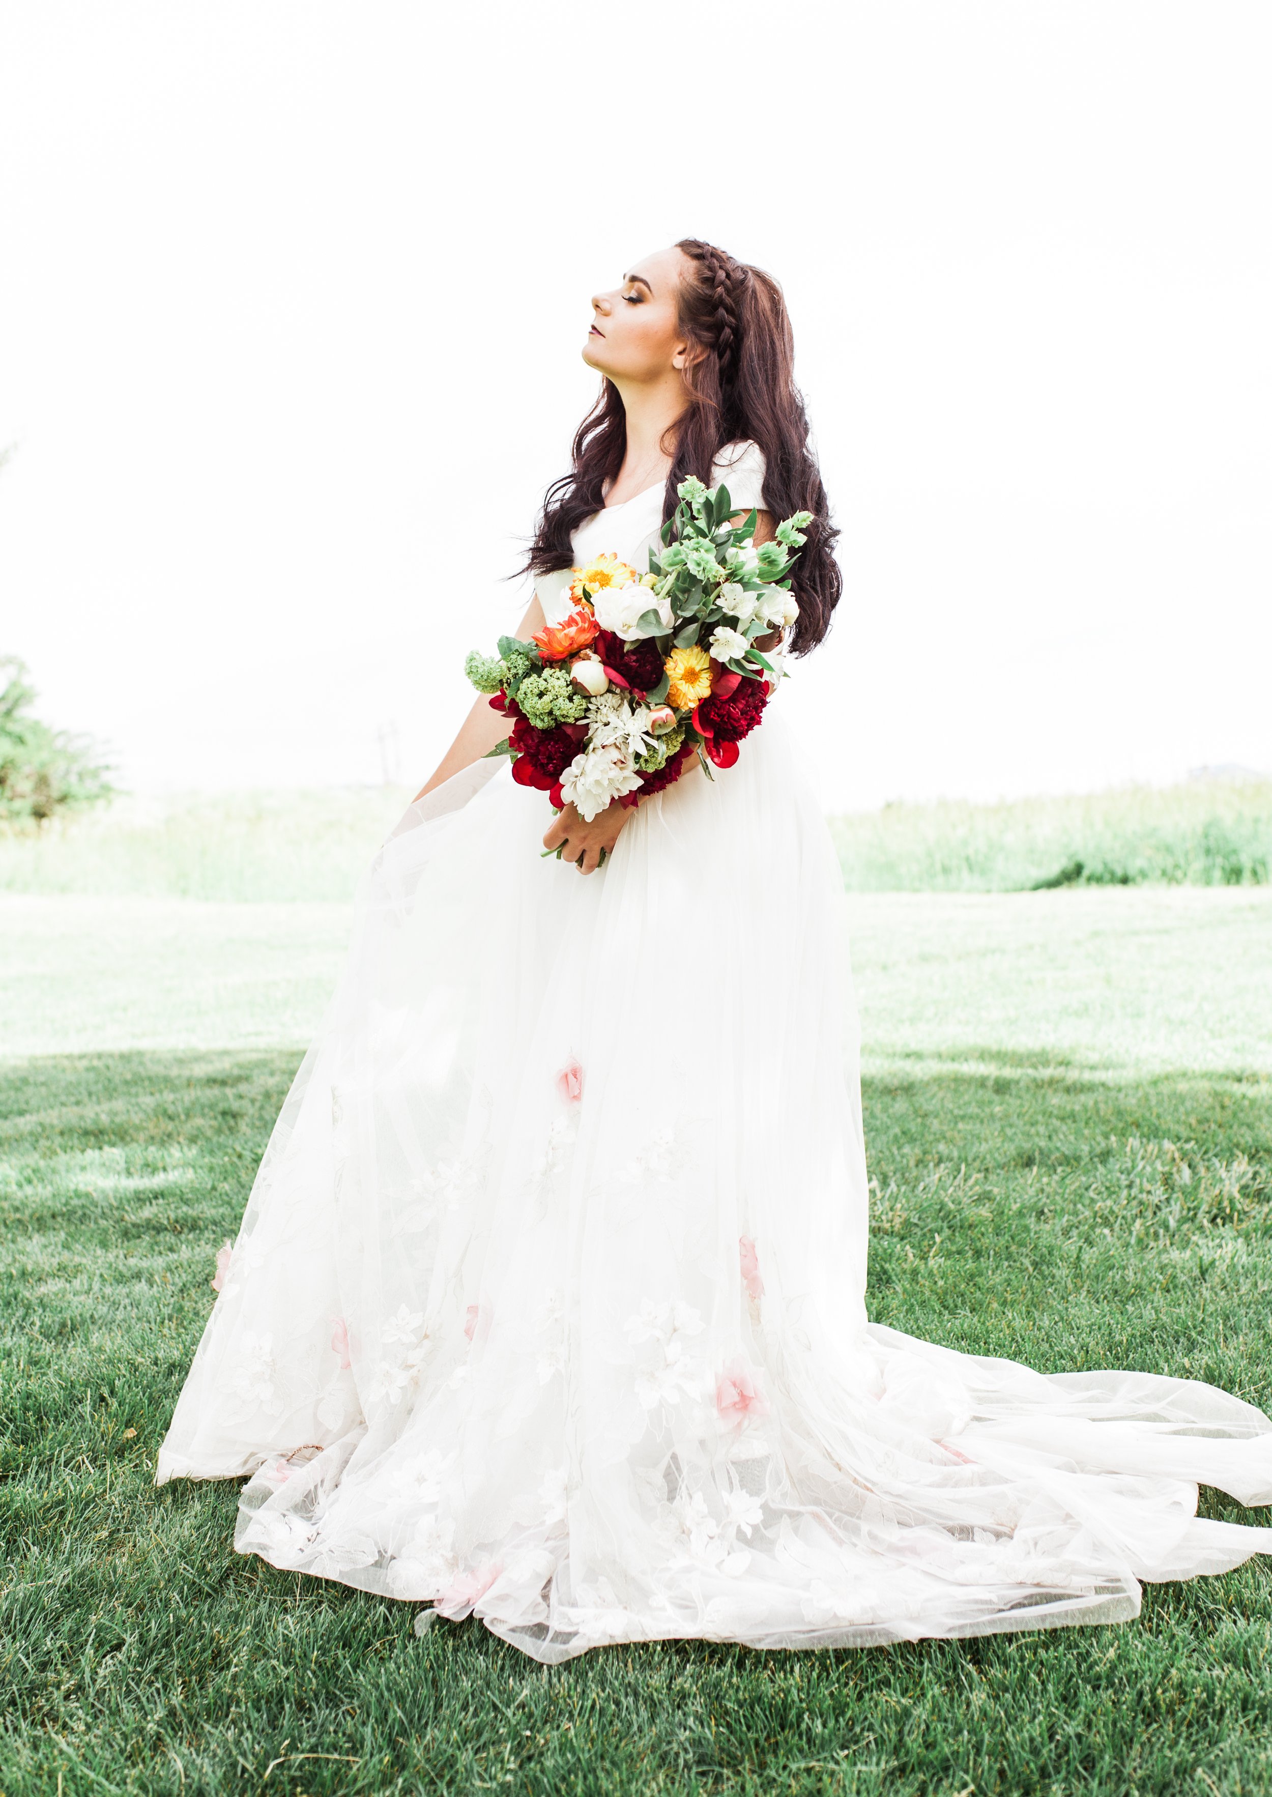
{"type": "MultiPolygon", "coordinates": [[[[406,805],[397,787],[117,800],[38,832],[0,828],[0,891],[347,900],[406,805]]],[[[1261,886],[1272,780],[1197,780],[1003,805],[832,818],[853,891],[1261,886]]]]}

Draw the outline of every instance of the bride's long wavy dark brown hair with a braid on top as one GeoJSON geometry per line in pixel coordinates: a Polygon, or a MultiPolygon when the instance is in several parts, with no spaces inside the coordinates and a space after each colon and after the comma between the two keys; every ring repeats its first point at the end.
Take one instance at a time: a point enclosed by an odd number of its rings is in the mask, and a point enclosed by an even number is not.
{"type": "MultiPolygon", "coordinates": [[[[794,654],[807,654],[830,629],[843,577],[834,559],[839,532],[830,523],[826,491],[808,447],[808,419],[794,385],[794,336],[782,288],[773,275],[735,262],[724,250],[683,237],[690,261],[679,289],[679,325],[702,349],[685,370],[688,406],[676,422],[676,453],[663,494],[663,521],[676,510],[676,489],[690,474],[710,483],[726,444],[751,440],[764,453],[764,510],[774,518],[812,512],[792,584],[799,616],[794,654]]],[[[573,440],[573,467],[548,487],[526,570],[570,568],[570,539],[605,503],[627,453],[627,415],[609,377],[573,440]]]]}

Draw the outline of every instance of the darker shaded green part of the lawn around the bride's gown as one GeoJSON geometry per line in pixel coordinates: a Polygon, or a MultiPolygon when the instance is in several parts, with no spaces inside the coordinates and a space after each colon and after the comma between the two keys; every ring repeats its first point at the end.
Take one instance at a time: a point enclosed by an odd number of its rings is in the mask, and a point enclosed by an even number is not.
{"type": "MultiPolygon", "coordinates": [[[[1042,1369],[1186,1373],[1272,1403],[1268,1078],[974,1058],[898,1055],[866,1085],[873,1314],[1042,1369]]],[[[1121,1628],[661,1644],[548,1671],[478,1624],[417,1641],[410,1605],[237,1558],[235,1490],[156,1492],[151,1466],[295,1062],[0,1071],[5,1797],[1272,1790],[1263,1560],[1150,1587],[1121,1628]]],[[[1243,1515],[1215,1493],[1204,1509],[1243,1515]]]]}

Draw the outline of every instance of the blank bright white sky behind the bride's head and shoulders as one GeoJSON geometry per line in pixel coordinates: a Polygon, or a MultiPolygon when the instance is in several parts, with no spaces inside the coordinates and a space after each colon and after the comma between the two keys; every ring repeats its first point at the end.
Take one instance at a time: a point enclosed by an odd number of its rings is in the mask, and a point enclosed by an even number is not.
{"type": "Polygon", "coordinates": [[[137,789],[424,778],[693,234],[783,282],[832,807],[1272,769],[1265,0],[0,0],[0,651],[137,789]]]}

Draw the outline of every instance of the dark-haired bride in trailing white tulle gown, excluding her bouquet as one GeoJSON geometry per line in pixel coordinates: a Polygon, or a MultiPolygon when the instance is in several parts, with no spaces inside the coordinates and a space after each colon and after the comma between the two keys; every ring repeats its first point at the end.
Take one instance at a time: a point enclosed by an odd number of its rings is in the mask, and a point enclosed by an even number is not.
{"type": "MultiPolygon", "coordinates": [[[[643,568],[688,474],[814,514],[782,291],[695,239],[593,300],[602,395],[530,555],[643,568]]],[[[248,1477],[235,1545],[476,1614],[539,1660],[1109,1623],[1267,1529],[1272,1421],[868,1323],[843,893],[782,703],[737,766],[555,821],[485,699],[375,857],[158,1459],[248,1477]],[[561,846],[561,859],[543,848],[561,846]],[[605,850],[604,866],[600,866],[605,850]],[[580,877],[582,875],[582,877],[580,877]]]]}

